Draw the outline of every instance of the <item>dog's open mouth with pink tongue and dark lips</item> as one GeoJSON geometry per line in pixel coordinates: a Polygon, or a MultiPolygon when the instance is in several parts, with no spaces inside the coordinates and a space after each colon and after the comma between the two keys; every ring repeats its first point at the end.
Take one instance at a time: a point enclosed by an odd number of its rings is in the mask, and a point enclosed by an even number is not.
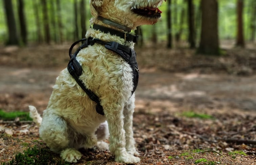
{"type": "Polygon", "coordinates": [[[161,17],[162,11],[157,7],[134,8],[133,12],[146,17],[161,17]]]}

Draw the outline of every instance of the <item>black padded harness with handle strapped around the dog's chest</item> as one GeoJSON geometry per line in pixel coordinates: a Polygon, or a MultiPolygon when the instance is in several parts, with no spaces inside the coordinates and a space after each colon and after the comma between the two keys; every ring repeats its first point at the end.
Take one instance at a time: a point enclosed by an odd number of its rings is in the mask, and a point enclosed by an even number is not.
{"type": "MultiPolygon", "coordinates": [[[[131,38],[132,40],[134,40],[133,38],[131,38]]],[[[132,68],[133,70],[133,90],[132,90],[132,94],[134,93],[135,89],[137,88],[138,85],[138,78],[139,78],[139,69],[138,69],[138,64],[137,64],[137,60],[136,60],[136,53],[134,51],[134,49],[128,48],[124,45],[121,45],[117,42],[104,42],[100,39],[97,38],[83,38],[81,40],[76,41],[74,44],[71,45],[70,49],[69,49],[69,56],[70,56],[70,61],[68,63],[68,71],[69,73],[73,76],[73,78],[76,80],[77,84],[88,94],[89,98],[96,102],[96,112],[104,115],[103,112],[103,107],[100,105],[100,99],[99,97],[90,89],[88,89],[85,84],[83,83],[82,80],[79,79],[79,76],[82,75],[82,66],[79,64],[79,62],[76,60],[76,55],[78,54],[78,52],[80,50],[82,50],[83,48],[88,47],[89,45],[94,45],[95,43],[99,43],[102,45],[105,45],[106,49],[109,49],[115,53],[117,53],[118,55],[120,55],[132,68]],[[73,47],[79,43],[79,42],[83,42],[84,43],[75,51],[74,54],[72,54],[72,49],[73,47]]]]}

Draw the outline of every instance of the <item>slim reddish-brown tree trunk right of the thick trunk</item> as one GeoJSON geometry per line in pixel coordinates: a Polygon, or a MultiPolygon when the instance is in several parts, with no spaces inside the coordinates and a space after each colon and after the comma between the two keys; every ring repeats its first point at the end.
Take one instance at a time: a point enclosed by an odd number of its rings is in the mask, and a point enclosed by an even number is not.
{"type": "Polygon", "coordinates": [[[243,38],[243,0],[237,0],[236,4],[237,14],[237,33],[236,33],[236,46],[245,47],[245,40],[243,38]]]}

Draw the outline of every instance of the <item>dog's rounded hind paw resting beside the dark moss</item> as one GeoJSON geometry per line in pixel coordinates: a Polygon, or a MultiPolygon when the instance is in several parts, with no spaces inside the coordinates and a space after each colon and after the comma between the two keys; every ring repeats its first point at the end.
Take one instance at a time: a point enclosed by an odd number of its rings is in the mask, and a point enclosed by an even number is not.
{"type": "Polygon", "coordinates": [[[67,162],[75,163],[82,157],[82,154],[74,148],[66,148],[61,152],[61,158],[67,162]]]}

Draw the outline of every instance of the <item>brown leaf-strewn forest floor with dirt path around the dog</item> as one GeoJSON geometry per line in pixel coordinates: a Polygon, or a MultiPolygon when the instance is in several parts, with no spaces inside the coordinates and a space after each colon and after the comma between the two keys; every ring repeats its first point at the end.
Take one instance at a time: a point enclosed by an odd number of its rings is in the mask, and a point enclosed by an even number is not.
{"type": "MultiPolygon", "coordinates": [[[[42,114],[68,63],[69,45],[0,46],[0,109],[28,111],[33,105],[42,114]]],[[[189,49],[136,48],[140,79],[134,137],[141,158],[136,165],[255,165],[255,47],[228,48],[218,57],[189,49]]],[[[34,123],[0,119],[0,133],[0,163],[34,146],[60,159],[39,138],[34,123]]],[[[123,164],[109,151],[81,152],[76,165],[123,164]]]]}

